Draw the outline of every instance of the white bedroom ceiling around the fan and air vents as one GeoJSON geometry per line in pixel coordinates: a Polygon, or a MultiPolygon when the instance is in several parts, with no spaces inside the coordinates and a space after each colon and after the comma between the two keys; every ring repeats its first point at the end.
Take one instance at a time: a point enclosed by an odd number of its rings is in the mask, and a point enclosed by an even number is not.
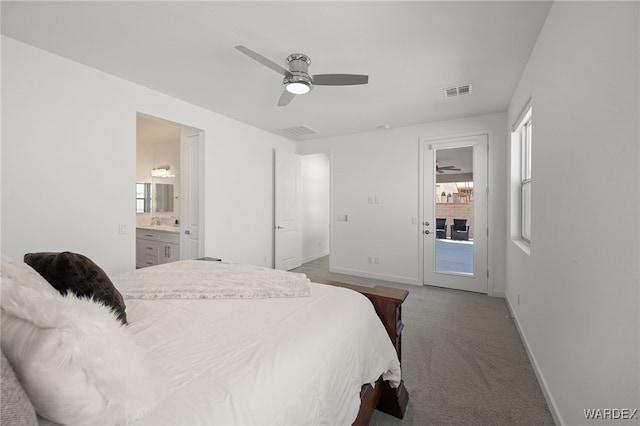
{"type": "Polygon", "coordinates": [[[505,111],[547,1],[2,1],[2,33],[291,139],[505,111]],[[318,86],[287,107],[282,76],[244,45],[309,72],[368,74],[318,86]],[[446,87],[472,93],[445,99],[446,87]],[[306,125],[316,135],[283,129],[306,125]]]}

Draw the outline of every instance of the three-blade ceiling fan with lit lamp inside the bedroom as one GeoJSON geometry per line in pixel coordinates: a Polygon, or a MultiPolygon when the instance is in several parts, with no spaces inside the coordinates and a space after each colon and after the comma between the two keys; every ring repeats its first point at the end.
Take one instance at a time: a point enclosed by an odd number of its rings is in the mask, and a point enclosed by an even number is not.
{"type": "Polygon", "coordinates": [[[303,95],[310,92],[313,86],[351,86],[354,84],[367,84],[369,82],[369,76],[362,74],[310,75],[308,68],[309,64],[311,64],[311,59],[302,53],[293,53],[287,57],[287,64],[289,66],[287,70],[244,46],[235,46],[235,48],[284,76],[282,84],[284,84],[285,90],[278,100],[278,106],[288,105],[296,95],[303,95]]]}

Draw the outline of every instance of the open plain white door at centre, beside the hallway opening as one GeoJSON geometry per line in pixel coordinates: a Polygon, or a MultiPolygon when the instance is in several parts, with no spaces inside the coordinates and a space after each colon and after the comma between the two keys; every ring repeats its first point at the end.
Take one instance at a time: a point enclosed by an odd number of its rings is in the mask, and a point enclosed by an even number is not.
{"type": "Polygon", "coordinates": [[[288,271],[302,264],[299,220],[300,157],[293,152],[276,150],[274,175],[275,268],[288,271]]]}

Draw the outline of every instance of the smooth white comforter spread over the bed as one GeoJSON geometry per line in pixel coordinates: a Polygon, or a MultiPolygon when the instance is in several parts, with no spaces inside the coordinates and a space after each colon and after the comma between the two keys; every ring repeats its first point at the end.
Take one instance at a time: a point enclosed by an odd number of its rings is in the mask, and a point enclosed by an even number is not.
{"type": "Polygon", "coordinates": [[[383,375],[397,386],[400,364],[364,296],[310,287],[297,298],[126,300],[158,381],[136,424],[351,424],[362,384],[383,375]]]}

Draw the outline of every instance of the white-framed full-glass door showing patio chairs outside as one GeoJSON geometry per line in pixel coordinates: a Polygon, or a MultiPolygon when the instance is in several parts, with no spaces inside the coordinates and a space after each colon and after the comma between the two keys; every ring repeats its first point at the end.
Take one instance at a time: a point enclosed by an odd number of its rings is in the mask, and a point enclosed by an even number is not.
{"type": "Polygon", "coordinates": [[[488,291],[487,139],[422,142],[424,285],[488,291]]]}

